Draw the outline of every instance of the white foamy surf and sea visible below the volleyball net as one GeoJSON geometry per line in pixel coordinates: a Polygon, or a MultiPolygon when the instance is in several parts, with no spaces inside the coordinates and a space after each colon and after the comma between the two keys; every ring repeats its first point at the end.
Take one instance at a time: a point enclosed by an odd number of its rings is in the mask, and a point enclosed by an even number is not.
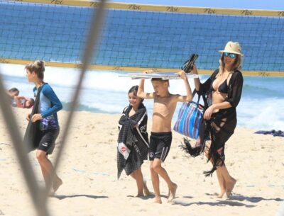
{"type": "MultiPolygon", "coordinates": [[[[6,89],[16,87],[20,95],[33,97],[33,83],[28,83],[23,65],[0,64],[6,89]]],[[[138,80],[121,78],[124,72],[88,71],[80,94],[77,110],[93,113],[121,113],[128,105],[127,93],[138,80]]],[[[48,82],[62,101],[63,109],[68,110],[72,95],[77,86],[78,69],[60,67],[45,68],[45,82],[48,82]]],[[[205,81],[208,76],[201,76],[205,81]]],[[[194,87],[190,79],[190,86],[194,87]]],[[[238,126],[256,130],[284,130],[284,77],[244,76],[244,88],[237,107],[238,126]]],[[[145,90],[153,91],[151,81],[146,80],[145,90]]],[[[170,92],[185,94],[181,80],[170,81],[170,92]]],[[[153,101],[145,100],[151,118],[153,101]]],[[[180,104],[173,120],[178,116],[180,104]]]]}

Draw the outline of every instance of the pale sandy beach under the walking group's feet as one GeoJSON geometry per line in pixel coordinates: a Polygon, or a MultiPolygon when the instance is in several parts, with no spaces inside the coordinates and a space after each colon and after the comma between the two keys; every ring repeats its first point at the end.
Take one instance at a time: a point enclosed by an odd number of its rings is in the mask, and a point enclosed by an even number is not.
{"type": "MultiPolygon", "coordinates": [[[[28,110],[13,108],[18,127],[23,135],[28,110]]],[[[61,131],[65,129],[67,111],[60,111],[61,131]]],[[[90,215],[275,215],[284,198],[284,139],[272,135],[256,135],[255,130],[237,127],[226,143],[226,166],[237,179],[230,199],[217,198],[217,176],[206,178],[203,171],[211,169],[205,157],[188,158],[179,145],[182,135],[173,132],[173,143],[163,166],[170,178],[178,184],[173,203],[167,203],[168,188],[160,179],[163,204],[153,203],[153,196],[135,198],[136,182],[123,172],[116,178],[117,122],[120,115],[77,112],[58,175],[63,184],[55,197],[49,198],[50,215],[90,216],[90,215]]],[[[273,129],[273,128],[271,128],[273,129]]],[[[151,117],[148,132],[151,130],[151,117]]],[[[0,215],[35,215],[30,193],[18,159],[0,115],[0,215]]],[[[62,135],[62,133],[61,133],[62,135]]],[[[58,138],[54,160],[60,147],[58,138]]],[[[44,184],[35,152],[28,154],[37,181],[44,184]]],[[[148,188],[153,192],[149,161],[142,170],[148,188]]]]}

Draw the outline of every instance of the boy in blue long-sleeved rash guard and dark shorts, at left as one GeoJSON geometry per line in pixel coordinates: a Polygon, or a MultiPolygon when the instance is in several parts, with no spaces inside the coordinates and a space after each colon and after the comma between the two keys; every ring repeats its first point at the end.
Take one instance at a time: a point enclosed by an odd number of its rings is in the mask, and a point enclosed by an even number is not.
{"type": "Polygon", "coordinates": [[[38,60],[26,65],[26,76],[28,81],[35,84],[35,88],[33,89],[35,96],[40,86],[42,87],[39,97],[38,112],[33,116],[28,114],[26,119],[30,120],[31,118],[33,123],[38,120],[40,121],[40,128],[36,140],[38,143],[36,157],[40,164],[45,184],[52,182],[53,191],[55,192],[62,185],[62,180],[57,174],[51,179],[51,174],[53,174],[54,169],[53,164],[48,159],[48,154],[53,153],[55,140],[59,135],[60,128],[58,125],[57,112],[62,109],[62,104],[50,85],[44,83],[44,71],[45,64],[43,61],[38,60]]]}

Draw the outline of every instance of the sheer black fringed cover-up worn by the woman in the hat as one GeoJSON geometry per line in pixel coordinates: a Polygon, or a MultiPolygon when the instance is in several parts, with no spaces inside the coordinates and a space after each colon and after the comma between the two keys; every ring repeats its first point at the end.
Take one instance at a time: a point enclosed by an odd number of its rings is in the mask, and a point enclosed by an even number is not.
{"type": "MultiPolygon", "coordinates": [[[[218,72],[219,69],[215,70],[204,84],[200,84],[200,90],[197,91],[197,94],[206,96],[208,106],[212,105],[213,89],[211,86],[218,72]]],[[[207,121],[206,136],[209,136],[209,140],[211,140],[208,161],[212,161],[213,168],[210,171],[204,172],[206,176],[212,176],[217,166],[224,164],[224,146],[236,128],[236,106],[238,106],[241,99],[243,82],[244,78],[241,72],[235,70],[231,75],[231,79],[229,79],[229,91],[225,99],[225,101],[231,104],[231,107],[220,109],[217,113],[213,113],[212,118],[207,121]]]]}

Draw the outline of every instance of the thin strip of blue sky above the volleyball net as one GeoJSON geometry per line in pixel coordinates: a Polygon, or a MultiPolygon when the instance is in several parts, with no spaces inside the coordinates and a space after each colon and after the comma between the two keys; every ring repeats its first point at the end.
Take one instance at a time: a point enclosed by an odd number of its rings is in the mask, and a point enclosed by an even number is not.
{"type": "Polygon", "coordinates": [[[211,8],[249,8],[284,11],[284,0],[112,0],[136,4],[160,4],[170,6],[200,6],[211,8]]]}

